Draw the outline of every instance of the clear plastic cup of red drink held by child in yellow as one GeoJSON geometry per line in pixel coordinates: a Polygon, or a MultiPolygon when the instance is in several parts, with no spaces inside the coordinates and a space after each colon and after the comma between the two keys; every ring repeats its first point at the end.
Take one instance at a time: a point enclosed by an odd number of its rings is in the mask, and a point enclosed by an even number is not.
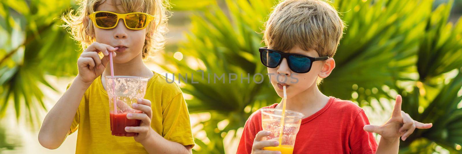
{"type": "Polygon", "coordinates": [[[113,136],[135,136],[125,127],[140,126],[141,120],[128,119],[128,113],[141,113],[132,108],[137,99],[144,98],[149,78],[138,76],[105,76],[109,96],[109,118],[113,136]],[[116,106],[115,103],[116,102],[116,106]]]}

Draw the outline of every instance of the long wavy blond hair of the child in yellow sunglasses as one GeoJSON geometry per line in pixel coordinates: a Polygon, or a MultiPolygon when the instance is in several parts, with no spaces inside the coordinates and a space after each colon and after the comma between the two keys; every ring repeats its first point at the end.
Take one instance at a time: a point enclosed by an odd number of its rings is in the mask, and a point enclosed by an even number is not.
{"type": "MultiPolygon", "coordinates": [[[[93,22],[88,18],[105,0],[78,0],[79,8],[62,15],[64,27],[69,29],[72,38],[85,49],[95,41],[93,22]]],[[[168,2],[164,0],[118,0],[124,12],[144,12],[155,16],[146,29],[146,40],[143,46],[143,58],[150,57],[154,52],[163,49],[167,30],[168,2]]],[[[116,0],[112,0],[116,6],[116,0]]],[[[116,7],[117,9],[117,7],[116,7]]],[[[119,11],[119,10],[117,10],[119,11]]]]}

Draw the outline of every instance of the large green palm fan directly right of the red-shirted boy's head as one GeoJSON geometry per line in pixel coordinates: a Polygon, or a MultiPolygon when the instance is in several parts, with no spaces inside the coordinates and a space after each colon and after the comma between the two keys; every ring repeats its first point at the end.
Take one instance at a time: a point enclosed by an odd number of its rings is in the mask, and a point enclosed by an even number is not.
{"type": "Polygon", "coordinates": [[[341,0],[333,5],[344,12],[347,28],[334,56],[335,69],[319,86],[323,93],[367,105],[372,98],[388,97],[383,85],[413,80],[401,74],[415,72],[411,66],[432,0],[341,0]]]}

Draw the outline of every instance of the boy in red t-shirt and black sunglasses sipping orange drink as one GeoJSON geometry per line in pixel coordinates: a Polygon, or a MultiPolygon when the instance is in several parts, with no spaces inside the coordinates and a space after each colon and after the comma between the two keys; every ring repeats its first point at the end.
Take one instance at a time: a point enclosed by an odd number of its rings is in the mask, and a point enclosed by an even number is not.
{"type": "MultiPolygon", "coordinates": [[[[397,95],[392,117],[382,126],[370,125],[363,109],[351,101],[328,97],[317,85],[335,67],[332,58],[344,24],[337,11],[323,0],[285,0],[265,23],[261,63],[268,68],[271,84],[280,97],[286,86],[286,109],[305,115],[298,131],[294,154],[373,154],[398,153],[399,138],[404,141],[415,128],[428,129],[401,111],[397,95]],[[296,76],[297,83],[282,82],[278,75],[296,76]],[[381,136],[377,142],[372,135],[381,136]]],[[[280,104],[263,108],[281,109],[280,104]]],[[[263,141],[271,132],[263,131],[261,111],[255,111],[244,126],[237,154],[280,154],[263,150],[278,141],[263,141]]]]}

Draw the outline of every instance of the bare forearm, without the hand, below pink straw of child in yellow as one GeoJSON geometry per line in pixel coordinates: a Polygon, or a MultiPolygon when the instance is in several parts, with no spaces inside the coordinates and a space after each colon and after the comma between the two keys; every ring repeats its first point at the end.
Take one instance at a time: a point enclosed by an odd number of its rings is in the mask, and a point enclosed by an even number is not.
{"type": "Polygon", "coordinates": [[[51,108],[38,134],[38,142],[43,147],[55,149],[61,146],[70,131],[80,101],[89,86],[77,76],[61,99],[51,108]]]}

